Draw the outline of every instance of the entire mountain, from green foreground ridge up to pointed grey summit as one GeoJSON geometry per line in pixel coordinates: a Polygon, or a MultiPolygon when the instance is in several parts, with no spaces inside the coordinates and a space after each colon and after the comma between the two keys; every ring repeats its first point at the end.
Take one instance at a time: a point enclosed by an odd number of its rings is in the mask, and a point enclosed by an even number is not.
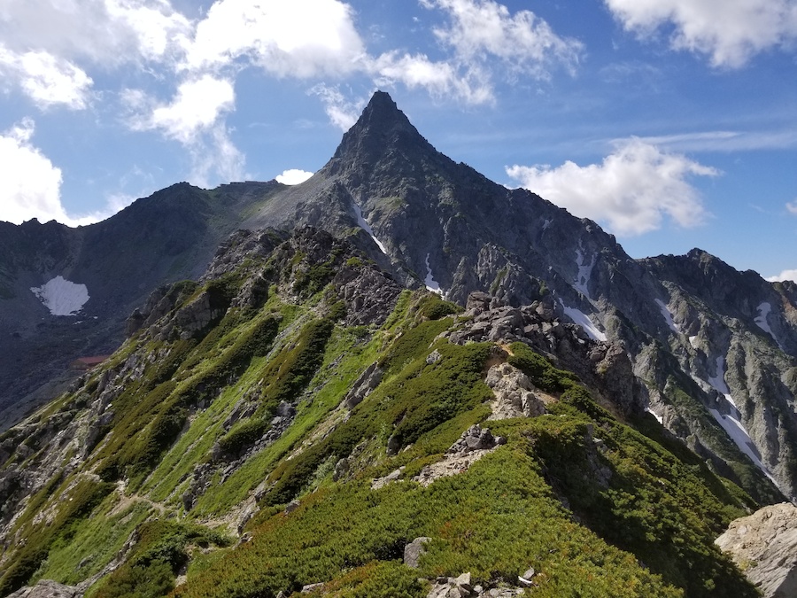
{"type": "Polygon", "coordinates": [[[632,260],[383,92],[306,183],[4,227],[0,595],[774,587],[715,540],[797,495],[793,283],[632,260]]]}

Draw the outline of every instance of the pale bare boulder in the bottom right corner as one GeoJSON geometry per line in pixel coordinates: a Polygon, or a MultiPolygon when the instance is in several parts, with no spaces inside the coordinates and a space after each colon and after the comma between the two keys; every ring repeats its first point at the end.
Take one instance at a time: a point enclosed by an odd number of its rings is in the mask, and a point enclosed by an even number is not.
{"type": "Polygon", "coordinates": [[[771,505],[733,521],[716,545],[731,553],[765,598],[797,596],[797,507],[771,505]]]}

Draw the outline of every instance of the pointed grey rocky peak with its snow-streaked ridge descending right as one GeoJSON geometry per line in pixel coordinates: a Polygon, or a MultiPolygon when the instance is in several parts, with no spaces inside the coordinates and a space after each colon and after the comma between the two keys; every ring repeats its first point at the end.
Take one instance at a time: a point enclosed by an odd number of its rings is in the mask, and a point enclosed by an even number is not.
{"type": "Polygon", "coordinates": [[[671,431],[760,498],[770,481],[797,495],[794,283],[700,250],[631,260],[594,222],[435,151],[380,92],[321,171],[246,225],[296,223],[356,238],[410,287],[460,304],[471,291],[540,300],[623,341],[671,431]]]}

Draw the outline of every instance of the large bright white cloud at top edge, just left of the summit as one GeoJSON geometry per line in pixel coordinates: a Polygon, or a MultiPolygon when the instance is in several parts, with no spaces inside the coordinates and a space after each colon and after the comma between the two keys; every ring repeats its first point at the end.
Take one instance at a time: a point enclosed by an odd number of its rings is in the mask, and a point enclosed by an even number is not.
{"type": "Polygon", "coordinates": [[[268,73],[308,78],[352,72],[364,56],[349,4],[220,0],[197,25],[184,66],[227,66],[245,57],[268,73]]]}

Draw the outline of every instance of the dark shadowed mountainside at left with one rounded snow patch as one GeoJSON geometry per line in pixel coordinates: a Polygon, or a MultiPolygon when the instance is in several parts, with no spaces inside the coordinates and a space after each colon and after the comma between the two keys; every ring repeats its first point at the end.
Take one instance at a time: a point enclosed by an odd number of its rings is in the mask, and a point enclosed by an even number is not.
{"type": "Polygon", "coordinates": [[[245,210],[280,188],[180,183],[78,229],[0,222],[0,430],[58,394],[41,386],[68,384],[71,361],[112,353],[155,287],[202,274],[245,210]]]}

